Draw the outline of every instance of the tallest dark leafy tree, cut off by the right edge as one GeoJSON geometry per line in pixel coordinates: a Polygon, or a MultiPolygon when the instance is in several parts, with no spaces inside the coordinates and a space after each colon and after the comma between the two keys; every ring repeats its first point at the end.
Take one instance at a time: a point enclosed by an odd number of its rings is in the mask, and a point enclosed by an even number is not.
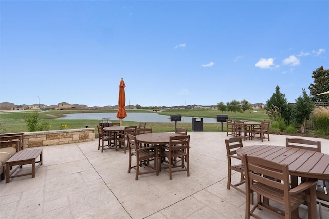
{"type": "Polygon", "coordinates": [[[329,91],[329,69],[324,70],[323,66],[321,66],[312,74],[314,83],[311,83],[308,87],[308,89],[310,90],[309,94],[313,96],[312,100],[314,102],[328,102],[329,95],[315,95],[329,91]]]}

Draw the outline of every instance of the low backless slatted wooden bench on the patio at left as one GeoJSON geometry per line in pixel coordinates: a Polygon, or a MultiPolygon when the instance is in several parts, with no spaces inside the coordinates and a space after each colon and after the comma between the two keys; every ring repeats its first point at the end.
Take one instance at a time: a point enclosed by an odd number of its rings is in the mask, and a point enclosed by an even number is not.
{"type": "Polygon", "coordinates": [[[42,165],[42,149],[22,150],[16,153],[6,162],[6,168],[5,168],[6,183],[9,183],[10,178],[15,178],[20,176],[32,175],[32,178],[34,178],[35,163],[39,163],[39,165],[42,165]],[[38,158],[39,156],[40,156],[40,160],[35,161],[36,158],[38,158]],[[32,171],[30,173],[12,175],[18,168],[22,168],[22,165],[24,164],[32,164],[32,171]],[[16,166],[16,165],[18,166],[14,168],[12,171],[10,171],[12,166],[16,166]]]}

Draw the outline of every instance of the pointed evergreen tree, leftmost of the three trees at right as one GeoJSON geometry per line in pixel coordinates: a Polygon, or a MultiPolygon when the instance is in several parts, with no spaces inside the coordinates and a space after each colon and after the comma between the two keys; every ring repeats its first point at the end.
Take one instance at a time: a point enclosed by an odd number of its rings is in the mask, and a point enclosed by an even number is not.
{"type": "Polygon", "coordinates": [[[270,99],[266,101],[267,114],[271,116],[271,109],[278,108],[282,118],[289,124],[289,119],[291,115],[291,107],[289,106],[285,94],[280,92],[279,85],[276,86],[276,92],[273,93],[270,99]]]}

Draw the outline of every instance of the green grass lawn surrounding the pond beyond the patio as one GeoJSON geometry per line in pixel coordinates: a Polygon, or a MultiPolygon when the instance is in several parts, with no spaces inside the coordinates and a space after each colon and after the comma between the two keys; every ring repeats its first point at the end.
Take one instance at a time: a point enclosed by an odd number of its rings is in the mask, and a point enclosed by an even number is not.
{"type": "MultiPolygon", "coordinates": [[[[40,111],[39,123],[47,122],[51,125],[49,130],[61,129],[61,124],[66,124],[69,129],[85,128],[85,125],[89,125],[90,128],[95,128],[97,131],[97,125],[100,120],[56,120],[56,118],[62,117],[64,114],[70,113],[93,113],[93,112],[117,112],[117,110],[50,110],[40,111]]],[[[150,112],[147,110],[127,110],[127,112],[150,112]]],[[[26,115],[32,113],[31,111],[19,111],[19,112],[1,112],[0,113],[0,133],[15,133],[15,132],[27,132],[27,126],[24,121],[26,115]]],[[[249,121],[261,121],[263,119],[269,120],[265,111],[254,110],[246,111],[243,113],[227,113],[220,112],[217,109],[174,109],[165,110],[159,113],[161,115],[181,114],[184,117],[204,117],[204,118],[217,118],[217,114],[227,114],[232,120],[249,120],[249,121]],[[255,112],[257,111],[257,112],[255,112]]],[[[112,122],[118,122],[118,120],[111,120],[112,122]]],[[[139,125],[139,122],[129,121],[129,117],[123,120],[124,126],[139,125]]],[[[152,128],[153,132],[171,132],[174,131],[175,123],[156,123],[148,122],[148,128],[152,128]]],[[[186,128],[192,131],[192,123],[177,122],[177,127],[186,128]]],[[[204,123],[204,131],[221,131],[221,123],[204,123]]],[[[223,126],[226,131],[226,125],[223,126]]]]}

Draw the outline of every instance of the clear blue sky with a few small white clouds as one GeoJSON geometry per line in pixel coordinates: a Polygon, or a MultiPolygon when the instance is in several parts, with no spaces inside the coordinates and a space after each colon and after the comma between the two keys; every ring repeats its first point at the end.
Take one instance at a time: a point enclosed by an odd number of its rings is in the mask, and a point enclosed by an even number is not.
{"type": "Polygon", "coordinates": [[[288,102],[329,68],[329,1],[1,1],[0,102],[288,102]]]}

